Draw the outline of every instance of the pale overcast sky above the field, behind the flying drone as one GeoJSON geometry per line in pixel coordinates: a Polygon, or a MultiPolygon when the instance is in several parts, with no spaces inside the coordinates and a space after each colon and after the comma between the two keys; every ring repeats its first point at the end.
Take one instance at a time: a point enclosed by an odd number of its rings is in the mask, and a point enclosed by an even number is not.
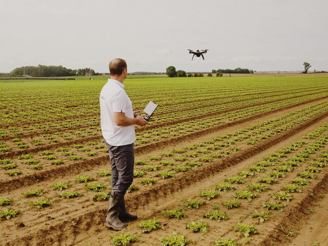
{"type": "Polygon", "coordinates": [[[1,0],[0,72],[62,65],[108,72],[328,70],[326,0],[1,0]],[[187,49],[210,49],[203,61],[187,49]]]}

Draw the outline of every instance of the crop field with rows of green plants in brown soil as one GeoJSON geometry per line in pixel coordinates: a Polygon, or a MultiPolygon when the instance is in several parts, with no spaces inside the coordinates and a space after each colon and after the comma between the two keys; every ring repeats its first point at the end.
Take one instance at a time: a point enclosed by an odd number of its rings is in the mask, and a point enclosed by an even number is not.
{"type": "Polygon", "coordinates": [[[327,75],[125,80],[135,110],[159,107],[118,232],[106,82],[0,81],[0,245],[328,245],[327,75]]]}

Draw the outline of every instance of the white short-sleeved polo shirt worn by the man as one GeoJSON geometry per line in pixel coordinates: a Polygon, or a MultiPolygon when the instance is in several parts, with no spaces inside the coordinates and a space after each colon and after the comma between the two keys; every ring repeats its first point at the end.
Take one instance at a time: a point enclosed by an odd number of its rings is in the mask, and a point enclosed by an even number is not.
{"type": "Polygon", "coordinates": [[[100,92],[100,124],[103,136],[111,146],[130,145],[135,141],[134,125],[119,127],[114,122],[113,112],[125,113],[134,118],[132,102],[123,89],[124,85],[115,79],[108,82],[100,92]]]}

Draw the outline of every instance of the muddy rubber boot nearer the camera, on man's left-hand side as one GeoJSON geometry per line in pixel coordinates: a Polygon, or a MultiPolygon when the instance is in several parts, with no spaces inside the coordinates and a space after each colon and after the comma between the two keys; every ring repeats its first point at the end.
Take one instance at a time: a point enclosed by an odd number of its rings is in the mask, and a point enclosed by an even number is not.
{"type": "Polygon", "coordinates": [[[126,228],[128,225],[123,223],[118,218],[118,210],[121,206],[122,200],[124,199],[124,194],[119,194],[117,192],[112,193],[109,198],[109,208],[107,212],[105,225],[109,229],[119,231],[123,228],[126,228]]]}

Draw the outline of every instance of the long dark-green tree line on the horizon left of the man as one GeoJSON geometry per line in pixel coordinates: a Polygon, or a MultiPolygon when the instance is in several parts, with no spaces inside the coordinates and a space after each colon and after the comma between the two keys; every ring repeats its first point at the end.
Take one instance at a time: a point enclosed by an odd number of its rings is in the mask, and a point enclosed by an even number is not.
{"type": "Polygon", "coordinates": [[[25,66],[15,68],[9,73],[9,76],[19,77],[23,75],[30,75],[32,77],[60,77],[60,76],[76,76],[76,75],[99,75],[91,68],[69,69],[63,66],[25,66]]]}

